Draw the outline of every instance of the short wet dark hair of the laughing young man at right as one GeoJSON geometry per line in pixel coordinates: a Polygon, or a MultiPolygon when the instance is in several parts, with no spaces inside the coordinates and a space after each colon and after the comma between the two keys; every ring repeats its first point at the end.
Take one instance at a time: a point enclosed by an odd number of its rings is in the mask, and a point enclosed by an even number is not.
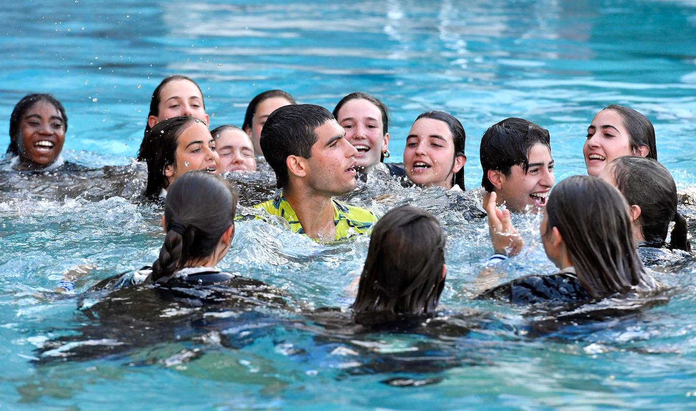
{"type": "Polygon", "coordinates": [[[551,138],[548,130],[523,118],[506,118],[493,124],[481,138],[480,159],[483,168],[481,185],[488,191],[495,191],[489,170],[510,175],[512,166],[520,165],[526,173],[529,169],[529,153],[532,146],[541,143],[551,151],[551,138]]]}

